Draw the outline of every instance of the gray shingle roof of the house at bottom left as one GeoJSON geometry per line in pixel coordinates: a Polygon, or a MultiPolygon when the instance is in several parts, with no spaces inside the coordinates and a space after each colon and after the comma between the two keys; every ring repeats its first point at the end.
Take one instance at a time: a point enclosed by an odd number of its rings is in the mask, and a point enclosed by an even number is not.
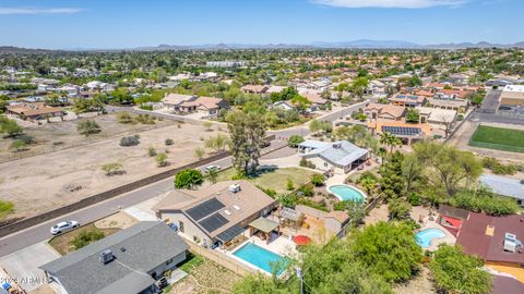
{"type": "Polygon", "coordinates": [[[40,269],[57,277],[69,294],[138,293],[154,283],[147,271],[188,248],[188,244],[165,223],[144,221],[40,269]],[[116,258],[104,265],[98,254],[106,249],[116,258]]]}

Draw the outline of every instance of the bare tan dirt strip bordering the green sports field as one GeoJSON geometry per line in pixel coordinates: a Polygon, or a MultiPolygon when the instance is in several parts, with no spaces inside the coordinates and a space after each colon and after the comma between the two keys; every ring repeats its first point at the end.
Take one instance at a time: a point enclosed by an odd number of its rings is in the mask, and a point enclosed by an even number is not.
{"type": "MultiPolygon", "coordinates": [[[[496,126],[496,127],[504,127],[504,128],[515,128],[515,130],[524,130],[524,126],[519,126],[514,124],[502,124],[502,123],[483,123],[483,125],[488,126],[496,126]]],[[[473,133],[478,126],[478,122],[471,122],[466,121],[461,126],[461,128],[456,132],[452,139],[450,139],[450,144],[456,145],[456,147],[463,150],[469,150],[478,156],[484,157],[495,157],[502,162],[512,162],[512,163],[521,163],[524,161],[524,154],[517,152],[507,152],[502,150],[495,150],[495,149],[487,149],[487,148],[478,148],[469,146],[469,138],[472,137],[473,133]]]]}

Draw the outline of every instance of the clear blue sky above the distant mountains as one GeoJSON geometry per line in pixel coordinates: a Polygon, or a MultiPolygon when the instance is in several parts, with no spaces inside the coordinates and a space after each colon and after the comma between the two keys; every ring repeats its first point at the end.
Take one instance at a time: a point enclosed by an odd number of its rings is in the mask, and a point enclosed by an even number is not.
{"type": "Polygon", "coordinates": [[[0,46],[524,41],[524,0],[0,0],[0,46]]]}

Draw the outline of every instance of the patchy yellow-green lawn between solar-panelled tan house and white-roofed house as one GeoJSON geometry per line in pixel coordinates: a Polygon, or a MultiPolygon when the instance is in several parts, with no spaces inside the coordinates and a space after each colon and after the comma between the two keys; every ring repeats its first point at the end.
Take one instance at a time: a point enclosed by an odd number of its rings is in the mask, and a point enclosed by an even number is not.
{"type": "MultiPolygon", "coordinates": [[[[263,188],[274,189],[277,194],[287,193],[287,179],[291,179],[295,187],[306,184],[315,174],[313,171],[299,168],[285,168],[260,173],[248,180],[263,188]]],[[[235,169],[218,173],[217,181],[229,181],[235,175],[235,169]]]]}

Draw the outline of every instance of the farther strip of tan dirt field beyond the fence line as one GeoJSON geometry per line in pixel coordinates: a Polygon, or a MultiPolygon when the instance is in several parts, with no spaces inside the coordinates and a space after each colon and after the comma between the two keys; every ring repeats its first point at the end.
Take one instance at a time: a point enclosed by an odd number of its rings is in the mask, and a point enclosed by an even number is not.
{"type": "Polygon", "coordinates": [[[25,151],[13,152],[9,150],[12,139],[0,138],[0,162],[96,143],[120,135],[134,134],[138,132],[164,127],[175,123],[170,120],[156,120],[155,124],[121,124],[118,123],[116,114],[93,115],[94,117],[88,118],[88,120],[96,121],[98,125],[100,125],[102,132],[88,137],[84,137],[76,131],[76,125],[79,122],[87,120],[80,119],[74,121],[46,123],[39,126],[25,127],[24,132],[33,136],[37,142],[35,145],[28,146],[28,150],[25,151]]]}

